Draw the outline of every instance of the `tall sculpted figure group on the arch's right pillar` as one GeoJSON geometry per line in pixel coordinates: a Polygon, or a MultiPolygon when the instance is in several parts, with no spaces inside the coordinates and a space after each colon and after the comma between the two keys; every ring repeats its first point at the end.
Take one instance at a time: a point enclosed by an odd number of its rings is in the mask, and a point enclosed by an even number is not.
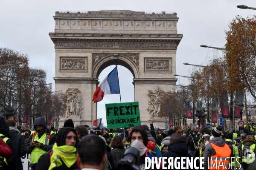
{"type": "Polygon", "coordinates": [[[153,90],[148,90],[147,96],[149,100],[148,108],[146,108],[146,110],[148,111],[150,117],[159,117],[160,103],[165,93],[166,92],[160,90],[158,86],[153,90]]]}

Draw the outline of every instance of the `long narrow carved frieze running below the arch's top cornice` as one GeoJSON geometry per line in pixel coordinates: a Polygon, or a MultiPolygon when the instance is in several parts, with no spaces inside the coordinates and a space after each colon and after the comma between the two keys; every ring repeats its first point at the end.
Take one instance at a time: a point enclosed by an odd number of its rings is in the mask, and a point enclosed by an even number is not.
{"type": "Polygon", "coordinates": [[[176,42],[54,42],[55,48],[177,48],[176,42]]]}

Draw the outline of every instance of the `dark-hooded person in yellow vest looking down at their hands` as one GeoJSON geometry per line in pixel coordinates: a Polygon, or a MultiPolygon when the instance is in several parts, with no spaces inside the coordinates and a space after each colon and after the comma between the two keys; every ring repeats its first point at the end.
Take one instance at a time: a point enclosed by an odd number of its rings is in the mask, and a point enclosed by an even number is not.
{"type": "Polygon", "coordinates": [[[53,145],[49,145],[49,139],[55,135],[55,133],[47,129],[43,117],[38,117],[35,120],[34,128],[35,133],[29,136],[29,139],[25,144],[26,153],[30,153],[31,170],[35,170],[40,156],[52,149],[53,145]]]}

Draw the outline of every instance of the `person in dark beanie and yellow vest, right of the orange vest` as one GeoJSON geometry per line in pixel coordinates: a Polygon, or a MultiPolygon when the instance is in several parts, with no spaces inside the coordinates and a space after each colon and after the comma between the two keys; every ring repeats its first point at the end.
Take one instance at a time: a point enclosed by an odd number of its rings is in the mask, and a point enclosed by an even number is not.
{"type": "MultiPolygon", "coordinates": [[[[234,133],[234,132],[233,132],[234,133]]],[[[233,133],[227,133],[226,134],[226,140],[225,143],[230,147],[231,150],[231,169],[235,169],[235,164],[236,164],[236,169],[239,169],[240,164],[239,164],[239,151],[238,147],[236,146],[235,143],[233,143],[233,133]]]]}

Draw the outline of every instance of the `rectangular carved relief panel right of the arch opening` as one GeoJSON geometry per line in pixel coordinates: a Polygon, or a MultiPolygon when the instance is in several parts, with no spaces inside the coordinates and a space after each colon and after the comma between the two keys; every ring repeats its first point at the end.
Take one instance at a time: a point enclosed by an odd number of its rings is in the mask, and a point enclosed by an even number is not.
{"type": "Polygon", "coordinates": [[[145,72],[172,73],[172,58],[144,58],[145,72]]]}

